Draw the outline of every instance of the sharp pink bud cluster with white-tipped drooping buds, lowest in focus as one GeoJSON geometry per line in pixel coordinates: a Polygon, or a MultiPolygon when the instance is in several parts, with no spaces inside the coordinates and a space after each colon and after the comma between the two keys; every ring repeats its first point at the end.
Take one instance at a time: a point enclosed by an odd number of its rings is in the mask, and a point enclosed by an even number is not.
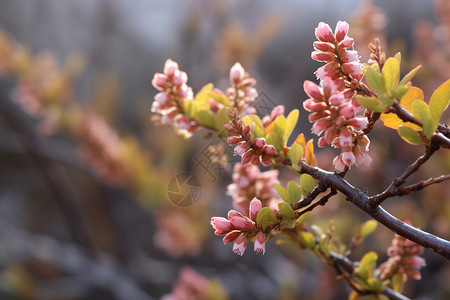
{"type": "Polygon", "coordinates": [[[256,253],[265,252],[267,236],[258,229],[256,217],[262,208],[262,203],[256,197],[250,202],[249,217],[240,212],[230,210],[228,219],[222,217],[211,218],[211,225],[216,235],[225,235],[223,243],[233,243],[233,252],[243,255],[248,241],[255,238],[254,250],[256,253]]]}

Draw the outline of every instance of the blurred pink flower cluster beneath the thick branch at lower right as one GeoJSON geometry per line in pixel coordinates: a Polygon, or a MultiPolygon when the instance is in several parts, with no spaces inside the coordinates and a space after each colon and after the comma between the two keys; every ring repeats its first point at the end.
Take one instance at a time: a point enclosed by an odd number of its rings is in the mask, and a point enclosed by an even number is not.
{"type": "MultiPolygon", "coordinates": [[[[406,223],[410,224],[408,221],[406,223]]],[[[395,235],[392,246],[387,250],[389,259],[380,266],[381,278],[389,279],[395,274],[405,274],[411,279],[420,280],[420,268],[426,266],[425,260],[419,256],[422,253],[422,246],[395,235]]]]}

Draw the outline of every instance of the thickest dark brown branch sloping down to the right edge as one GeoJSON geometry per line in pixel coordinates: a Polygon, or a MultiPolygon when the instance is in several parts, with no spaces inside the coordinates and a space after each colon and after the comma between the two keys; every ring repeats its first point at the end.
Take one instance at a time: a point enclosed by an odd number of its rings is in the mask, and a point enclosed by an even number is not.
{"type": "Polygon", "coordinates": [[[372,207],[369,204],[369,197],[366,194],[350,185],[338,174],[312,167],[305,162],[302,162],[301,166],[301,173],[309,174],[324,185],[340,191],[347,197],[348,201],[352,202],[391,231],[450,259],[449,241],[406,224],[389,214],[380,206],[372,207]]]}

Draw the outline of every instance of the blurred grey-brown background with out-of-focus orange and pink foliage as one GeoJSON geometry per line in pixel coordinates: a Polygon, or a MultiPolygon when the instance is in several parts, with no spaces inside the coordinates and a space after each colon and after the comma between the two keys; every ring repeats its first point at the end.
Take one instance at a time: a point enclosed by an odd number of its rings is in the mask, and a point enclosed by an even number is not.
{"type": "MultiPolygon", "coordinates": [[[[378,37],[387,55],[402,52],[404,73],[422,64],[413,83],[426,99],[450,78],[447,0],[0,0],[0,53],[15,62],[0,56],[0,299],[345,299],[346,283],[307,251],[271,239],[264,256],[239,257],[224,246],[209,221],[232,208],[232,181],[204,156],[220,141],[186,140],[150,120],[151,79],[167,58],[194,92],[209,82],[225,90],[239,61],[258,81],[257,112],[299,108],[294,133],[311,138],[302,85],[320,66],[314,28],[339,20],[362,61],[378,37]],[[192,174],[193,202],[174,205],[174,180],[192,174]]],[[[375,194],[423,149],[381,124],[370,138],[373,165],[347,178],[375,194]]],[[[316,155],[332,170],[336,151],[316,155]]],[[[229,167],[237,161],[229,156],[229,167]]],[[[449,170],[441,150],[411,183],[449,170]]],[[[384,206],[450,239],[449,195],[444,183],[384,206]]],[[[368,217],[335,196],[310,219],[324,228],[333,219],[348,241],[368,217]]],[[[379,226],[351,258],[374,250],[384,261],[392,238],[379,226]]],[[[424,257],[423,279],[405,294],[449,299],[448,261],[424,257]]]]}

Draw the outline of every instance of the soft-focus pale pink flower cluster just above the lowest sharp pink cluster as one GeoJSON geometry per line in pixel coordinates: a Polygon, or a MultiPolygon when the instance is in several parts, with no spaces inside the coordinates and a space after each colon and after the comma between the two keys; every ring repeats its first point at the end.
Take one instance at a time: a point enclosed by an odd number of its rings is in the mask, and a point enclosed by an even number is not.
{"type": "Polygon", "coordinates": [[[279,199],[273,184],[278,183],[278,170],[261,172],[257,166],[240,163],[234,165],[233,183],[228,186],[227,194],[233,197],[233,206],[248,214],[248,205],[256,197],[264,206],[273,206],[279,199]]]}

